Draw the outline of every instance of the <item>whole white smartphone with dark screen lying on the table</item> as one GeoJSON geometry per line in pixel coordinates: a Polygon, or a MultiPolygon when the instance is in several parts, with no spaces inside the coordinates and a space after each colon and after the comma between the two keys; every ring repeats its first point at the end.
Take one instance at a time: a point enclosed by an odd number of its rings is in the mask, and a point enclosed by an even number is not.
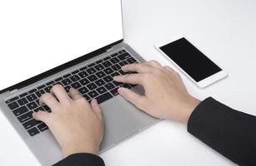
{"type": "Polygon", "coordinates": [[[159,42],[154,46],[200,88],[228,76],[222,68],[193,46],[185,37],[159,42]]]}

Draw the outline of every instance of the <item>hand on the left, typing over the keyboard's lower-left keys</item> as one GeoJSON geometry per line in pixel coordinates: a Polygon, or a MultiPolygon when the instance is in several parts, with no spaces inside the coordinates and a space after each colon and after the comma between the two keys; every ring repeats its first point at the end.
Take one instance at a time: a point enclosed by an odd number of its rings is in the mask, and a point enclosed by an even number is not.
{"type": "Polygon", "coordinates": [[[48,105],[52,112],[38,111],[33,117],[48,125],[64,158],[77,153],[98,154],[103,139],[103,117],[98,102],[92,100],[89,104],[73,88],[69,95],[71,98],[62,85],[54,85],[51,94],[40,98],[40,105],[48,105]]]}

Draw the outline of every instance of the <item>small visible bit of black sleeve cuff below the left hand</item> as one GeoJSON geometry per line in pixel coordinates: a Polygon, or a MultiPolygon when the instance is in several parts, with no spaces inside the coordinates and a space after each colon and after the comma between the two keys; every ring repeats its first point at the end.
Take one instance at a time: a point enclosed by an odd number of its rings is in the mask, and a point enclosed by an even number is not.
{"type": "Polygon", "coordinates": [[[104,166],[103,159],[94,154],[72,154],[53,166],[104,166]]]}

